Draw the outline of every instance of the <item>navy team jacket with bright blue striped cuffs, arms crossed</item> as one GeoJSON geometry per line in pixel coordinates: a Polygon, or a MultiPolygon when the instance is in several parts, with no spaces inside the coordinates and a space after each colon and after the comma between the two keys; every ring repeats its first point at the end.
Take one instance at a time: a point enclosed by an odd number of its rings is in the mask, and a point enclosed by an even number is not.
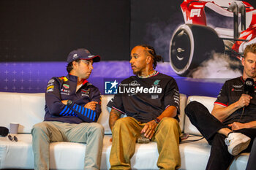
{"type": "Polygon", "coordinates": [[[49,80],[45,93],[45,121],[64,123],[97,122],[101,113],[99,89],[84,80],[77,88],[78,77],[68,74],[66,77],[53,77],[49,80]],[[62,100],[71,100],[72,104],[62,104],[62,100]],[[84,108],[89,101],[97,101],[96,109],[84,108]]]}

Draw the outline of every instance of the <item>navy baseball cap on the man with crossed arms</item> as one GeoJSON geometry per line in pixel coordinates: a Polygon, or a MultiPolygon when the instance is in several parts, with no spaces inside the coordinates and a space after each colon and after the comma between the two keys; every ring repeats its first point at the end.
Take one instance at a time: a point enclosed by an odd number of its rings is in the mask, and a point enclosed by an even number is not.
{"type": "Polygon", "coordinates": [[[86,50],[85,48],[79,48],[78,50],[73,50],[69,53],[67,56],[67,63],[71,63],[72,61],[75,61],[76,59],[82,59],[82,60],[90,60],[94,62],[99,62],[100,57],[99,55],[91,55],[89,50],[86,50]]]}

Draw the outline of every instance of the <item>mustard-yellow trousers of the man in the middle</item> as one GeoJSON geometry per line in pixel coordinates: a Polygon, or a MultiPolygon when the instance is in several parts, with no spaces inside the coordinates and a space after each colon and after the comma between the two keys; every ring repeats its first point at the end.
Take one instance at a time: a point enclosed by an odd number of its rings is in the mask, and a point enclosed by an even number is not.
{"type": "MultiPolygon", "coordinates": [[[[145,124],[133,117],[118,119],[112,129],[113,144],[110,152],[110,169],[131,169],[130,158],[135,153],[135,144],[145,124]]],[[[178,121],[165,117],[157,125],[151,141],[157,142],[159,169],[178,169],[181,166],[179,136],[181,129],[178,121]]]]}

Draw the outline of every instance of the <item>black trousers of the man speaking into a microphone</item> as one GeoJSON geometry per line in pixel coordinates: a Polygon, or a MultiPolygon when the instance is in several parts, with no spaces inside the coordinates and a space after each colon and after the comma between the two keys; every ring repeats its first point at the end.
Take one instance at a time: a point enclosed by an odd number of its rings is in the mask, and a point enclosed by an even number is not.
{"type": "MultiPolygon", "coordinates": [[[[221,128],[228,128],[216,117],[208,112],[208,109],[197,101],[190,102],[185,108],[185,113],[189,120],[200,133],[206,138],[208,144],[211,144],[211,154],[206,166],[207,170],[226,170],[233,161],[234,156],[230,155],[225,144],[226,136],[217,133],[221,128]]],[[[256,128],[243,128],[236,132],[240,132],[251,138],[249,147],[243,152],[250,152],[253,139],[256,136],[256,128]]]]}

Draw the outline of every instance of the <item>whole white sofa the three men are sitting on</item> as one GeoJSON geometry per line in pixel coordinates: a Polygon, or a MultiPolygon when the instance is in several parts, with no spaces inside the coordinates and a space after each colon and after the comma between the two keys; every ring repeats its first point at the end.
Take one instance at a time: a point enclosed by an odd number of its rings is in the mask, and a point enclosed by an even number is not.
{"type": "MultiPolygon", "coordinates": [[[[102,114],[98,123],[105,127],[105,138],[102,151],[101,169],[110,169],[109,155],[111,149],[111,131],[108,127],[110,109],[106,107],[113,96],[102,96],[102,114]]],[[[189,101],[200,101],[211,110],[216,98],[206,96],[181,95],[181,130],[187,134],[197,134],[187,116],[184,107],[189,101]]],[[[31,128],[34,124],[42,122],[45,115],[45,98],[43,93],[4,93],[0,92],[0,126],[9,128],[11,122],[18,122],[18,142],[11,142],[7,136],[0,137],[0,169],[34,169],[34,158],[31,147],[31,128]]],[[[195,136],[189,139],[198,139],[195,136]]],[[[180,144],[181,168],[188,170],[206,169],[206,163],[211,146],[205,139],[198,142],[180,144]]],[[[50,169],[83,169],[83,159],[86,144],[70,142],[53,142],[50,144],[50,169]]],[[[249,153],[238,155],[230,169],[243,170],[249,153]]],[[[158,169],[157,144],[137,144],[135,155],[131,159],[132,169],[158,169]]]]}

